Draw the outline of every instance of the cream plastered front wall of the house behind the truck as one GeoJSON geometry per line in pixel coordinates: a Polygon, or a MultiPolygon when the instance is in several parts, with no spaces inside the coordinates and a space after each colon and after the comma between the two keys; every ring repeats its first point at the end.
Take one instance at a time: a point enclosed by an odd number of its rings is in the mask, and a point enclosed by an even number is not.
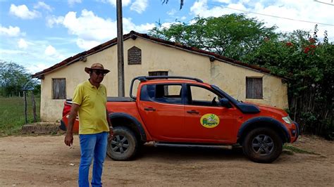
{"type": "MultiPolygon", "coordinates": [[[[117,96],[117,46],[87,56],[87,62],[76,62],[49,72],[42,79],[41,119],[61,119],[64,99],[52,99],[52,79],[66,78],[66,98],[73,97],[75,86],[89,78],[84,71],[92,63],[102,63],[111,70],[102,84],[106,85],[108,96],[117,96]]],[[[156,44],[146,39],[128,39],[124,42],[125,96],[129,96],[133,77],[148,75],[150,71],[168,71],[168,75],[197,77],[204,82],[216,84],[231,96],[242,101],[264,103],[278,108],[287,108],[287,85],[279,77],[267,75],[247,67],[240,67],[191,53],[174,47],[156,44]],[[128,49],[137,46],[142,50],[142,64],[128,65],[128,49]],[[264,99],[249,100],[246,97],[246,77],[263,77],[264,99]]],[[[135,92],[134,92],[135,93],[135,92]]]]}

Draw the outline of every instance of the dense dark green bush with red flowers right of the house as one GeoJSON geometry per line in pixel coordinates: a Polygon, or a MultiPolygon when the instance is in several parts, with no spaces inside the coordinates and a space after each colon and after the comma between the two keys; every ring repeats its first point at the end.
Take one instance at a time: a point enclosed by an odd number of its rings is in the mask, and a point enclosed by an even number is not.
{"type": "Polygon", "coordinates": [[[313,34],[297,30],[266,41],[247,61],[289,79],[289,110],[302,131],[334,138],[334,45],[317,32],[316,26],[313,34]]]}

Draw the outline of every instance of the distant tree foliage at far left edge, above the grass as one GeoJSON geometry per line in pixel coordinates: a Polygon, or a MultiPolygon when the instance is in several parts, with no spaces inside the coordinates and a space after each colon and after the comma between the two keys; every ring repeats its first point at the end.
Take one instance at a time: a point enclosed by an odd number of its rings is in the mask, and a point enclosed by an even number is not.
{"type": "Polygon", "coordinates": [[[23,91],[33,90],[36,84],[37,82],[22,65],[0,61],[0,94],[2,96],[23,96],[23,91]]]}

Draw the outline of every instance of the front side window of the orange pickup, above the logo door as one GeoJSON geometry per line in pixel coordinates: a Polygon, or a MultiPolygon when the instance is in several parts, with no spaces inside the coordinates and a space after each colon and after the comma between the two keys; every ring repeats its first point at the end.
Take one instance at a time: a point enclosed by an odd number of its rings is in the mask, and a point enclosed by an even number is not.
{"type": "Polygon", "coordinates": [[[204,106],[218,106],[221,96],[218,96],[213,91],[203,88],[201,86],[188,85],[188,104],[190,105],[204,105],[204,106]]]}

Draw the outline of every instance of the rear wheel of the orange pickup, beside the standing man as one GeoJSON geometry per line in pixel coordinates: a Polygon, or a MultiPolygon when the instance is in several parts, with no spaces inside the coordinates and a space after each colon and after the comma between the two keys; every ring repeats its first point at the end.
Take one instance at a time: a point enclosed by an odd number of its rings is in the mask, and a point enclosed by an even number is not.
{"type": "Polygon", "coordinates": [[[114,127],[113,139],[108,142],[106,155],[113,160],[130,160],[137,153],[138,141],[127,127],[114,127]]]}

